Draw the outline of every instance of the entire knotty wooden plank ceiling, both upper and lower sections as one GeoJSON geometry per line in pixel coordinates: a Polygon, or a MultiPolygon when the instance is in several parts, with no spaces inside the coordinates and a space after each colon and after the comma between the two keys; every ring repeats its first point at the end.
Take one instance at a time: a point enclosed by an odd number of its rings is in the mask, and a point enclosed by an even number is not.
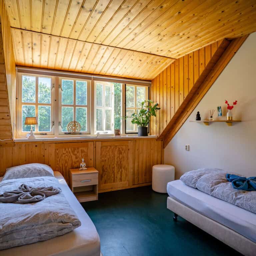
{"type": "Polygon", "coordinates": [[[173,58],[256,31],[256,0],[5,0],[5,4],[17,64],[146,80],[173,58]]]}

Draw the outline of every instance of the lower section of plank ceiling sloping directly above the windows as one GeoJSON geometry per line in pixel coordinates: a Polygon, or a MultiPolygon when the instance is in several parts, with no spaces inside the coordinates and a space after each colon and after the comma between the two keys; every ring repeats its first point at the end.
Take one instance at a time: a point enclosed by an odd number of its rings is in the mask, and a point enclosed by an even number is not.
{"type": "Polygon", "coordinates": [[[12,28],[16,64],[151,80],[175,59],[12,28]]]}

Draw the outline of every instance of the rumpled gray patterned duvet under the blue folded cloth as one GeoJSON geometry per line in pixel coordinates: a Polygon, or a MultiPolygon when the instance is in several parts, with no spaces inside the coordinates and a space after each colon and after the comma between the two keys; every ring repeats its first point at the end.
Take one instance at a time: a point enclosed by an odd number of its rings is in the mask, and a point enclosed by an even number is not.
{"type": "Polygon", "coordinates": [[[234,189],[226,174],[221,169],[203,168],[184,173],[180,180],[190,187],[256,213],[256,191],[234,189]]]}

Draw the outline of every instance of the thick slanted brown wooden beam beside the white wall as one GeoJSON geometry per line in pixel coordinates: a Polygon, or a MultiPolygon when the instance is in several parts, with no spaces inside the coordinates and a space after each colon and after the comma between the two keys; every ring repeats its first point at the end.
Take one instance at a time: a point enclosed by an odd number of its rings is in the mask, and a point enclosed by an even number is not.
{"type": "Polygon", "coordinates": [[[189,115],[211,88],[247,37],[248,35],[232,41],[225,39],[221,42],[204,71],[195,82],[195,85],[192,87],[164,131],[158,137],[158,140],[163,140],[164,148],[185,123],[189,115]]]}

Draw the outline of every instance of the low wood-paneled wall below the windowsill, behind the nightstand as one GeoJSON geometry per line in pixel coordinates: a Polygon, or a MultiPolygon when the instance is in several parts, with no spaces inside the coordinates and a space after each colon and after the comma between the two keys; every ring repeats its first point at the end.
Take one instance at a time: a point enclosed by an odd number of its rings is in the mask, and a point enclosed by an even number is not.
{"type": "Polygon", "coordinates": [[[84,157],[88,167],[99,170],[99,188],[124,189],[152,182],[152,166],[163,163],[162,141],[155,138],[91,140],[86,142],[19,142],[0,147],[0,176],[6,168],[43,163],[59,171],[69,182],[69,169],[84,157]]]}

